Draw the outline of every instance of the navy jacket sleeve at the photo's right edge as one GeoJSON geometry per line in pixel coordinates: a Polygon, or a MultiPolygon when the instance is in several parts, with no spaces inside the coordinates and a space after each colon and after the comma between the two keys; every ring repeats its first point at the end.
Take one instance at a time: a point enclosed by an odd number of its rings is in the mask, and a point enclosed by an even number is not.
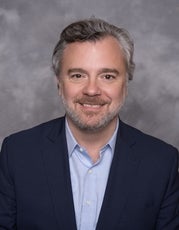
{"type": "Polygon", "coordinates": [[[173,161],[165,195],[162,199],[156,230],[179,230],[179,172],[178,151],[173,161]]]}

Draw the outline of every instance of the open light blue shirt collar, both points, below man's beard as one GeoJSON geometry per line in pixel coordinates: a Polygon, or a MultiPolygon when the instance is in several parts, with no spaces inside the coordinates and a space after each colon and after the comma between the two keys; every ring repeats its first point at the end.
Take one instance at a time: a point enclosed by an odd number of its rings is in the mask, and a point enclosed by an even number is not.
{"type": "MultiPolygon", "coordinates": [[[[117,137],[118,128],[119,128],[119,119],[117,120],[116,129],[115,129],[112,137],[110,138],[108,143],[106,143],[106,145],[103,147],[103,148],[105,148],[106,146],[109,146],[111,148],[111,150],[112,150],[112,153],[114,153],[114,149],[115,149],[115,143],[116,143],[116,137],[117,137]]],[[[80,147],[80,145],[78,144],[78,142],[76,141],[75,137],[73,136],[73,134],[72,134],[72,132],[70,130],[70,127],[68,125],[67,119],[65,119],[65,131],[66,131],[68,154],[69,154],[69,157],[70,157],[72,155],[74,149],[77,146],[80,147]]]]}

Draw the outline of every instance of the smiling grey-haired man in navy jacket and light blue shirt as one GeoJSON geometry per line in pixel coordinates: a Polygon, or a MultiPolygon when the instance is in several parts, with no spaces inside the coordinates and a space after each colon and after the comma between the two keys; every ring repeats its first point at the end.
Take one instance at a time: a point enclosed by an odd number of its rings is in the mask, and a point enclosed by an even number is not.
{"type": "Polygon", "coordinates": [[[52,62],[66,116],[4,140],[0,229],[179,229],[177,150],[118,117],[134,71],[128,32],[75,22],[52,62]]]}

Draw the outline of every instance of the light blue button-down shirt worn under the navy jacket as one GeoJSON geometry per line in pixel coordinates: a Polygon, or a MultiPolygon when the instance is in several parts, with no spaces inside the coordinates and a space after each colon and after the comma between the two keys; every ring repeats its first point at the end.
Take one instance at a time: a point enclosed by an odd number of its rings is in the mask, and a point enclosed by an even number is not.
{"type": "Polygon", "coordinates": [[[98,161],[93,163],[86,150],[75,140],[66,121],[70,174],[78,230],[96,229],[114,154],[118,123],[109,142],[101,148],[98,161]]]}

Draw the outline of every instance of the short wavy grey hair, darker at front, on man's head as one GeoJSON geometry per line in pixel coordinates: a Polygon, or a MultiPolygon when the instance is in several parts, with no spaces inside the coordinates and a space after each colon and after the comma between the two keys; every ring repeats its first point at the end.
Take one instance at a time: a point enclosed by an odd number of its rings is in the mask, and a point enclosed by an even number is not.
{"type": "Polygon", "coordinates": [[[118,28],[97,18],[74,22],[62,31],[60,40],[56,44],[52,55],[52,69],[55,75],[57,77],[60,75],[63,51],[68,44],[73,42],[98,41],[107,36],[113,36],[118,40],[124,54],[128,80],[132,80],[135,63],[133,61],[134,43],[130,34],[123,28],[118,28]]]}

